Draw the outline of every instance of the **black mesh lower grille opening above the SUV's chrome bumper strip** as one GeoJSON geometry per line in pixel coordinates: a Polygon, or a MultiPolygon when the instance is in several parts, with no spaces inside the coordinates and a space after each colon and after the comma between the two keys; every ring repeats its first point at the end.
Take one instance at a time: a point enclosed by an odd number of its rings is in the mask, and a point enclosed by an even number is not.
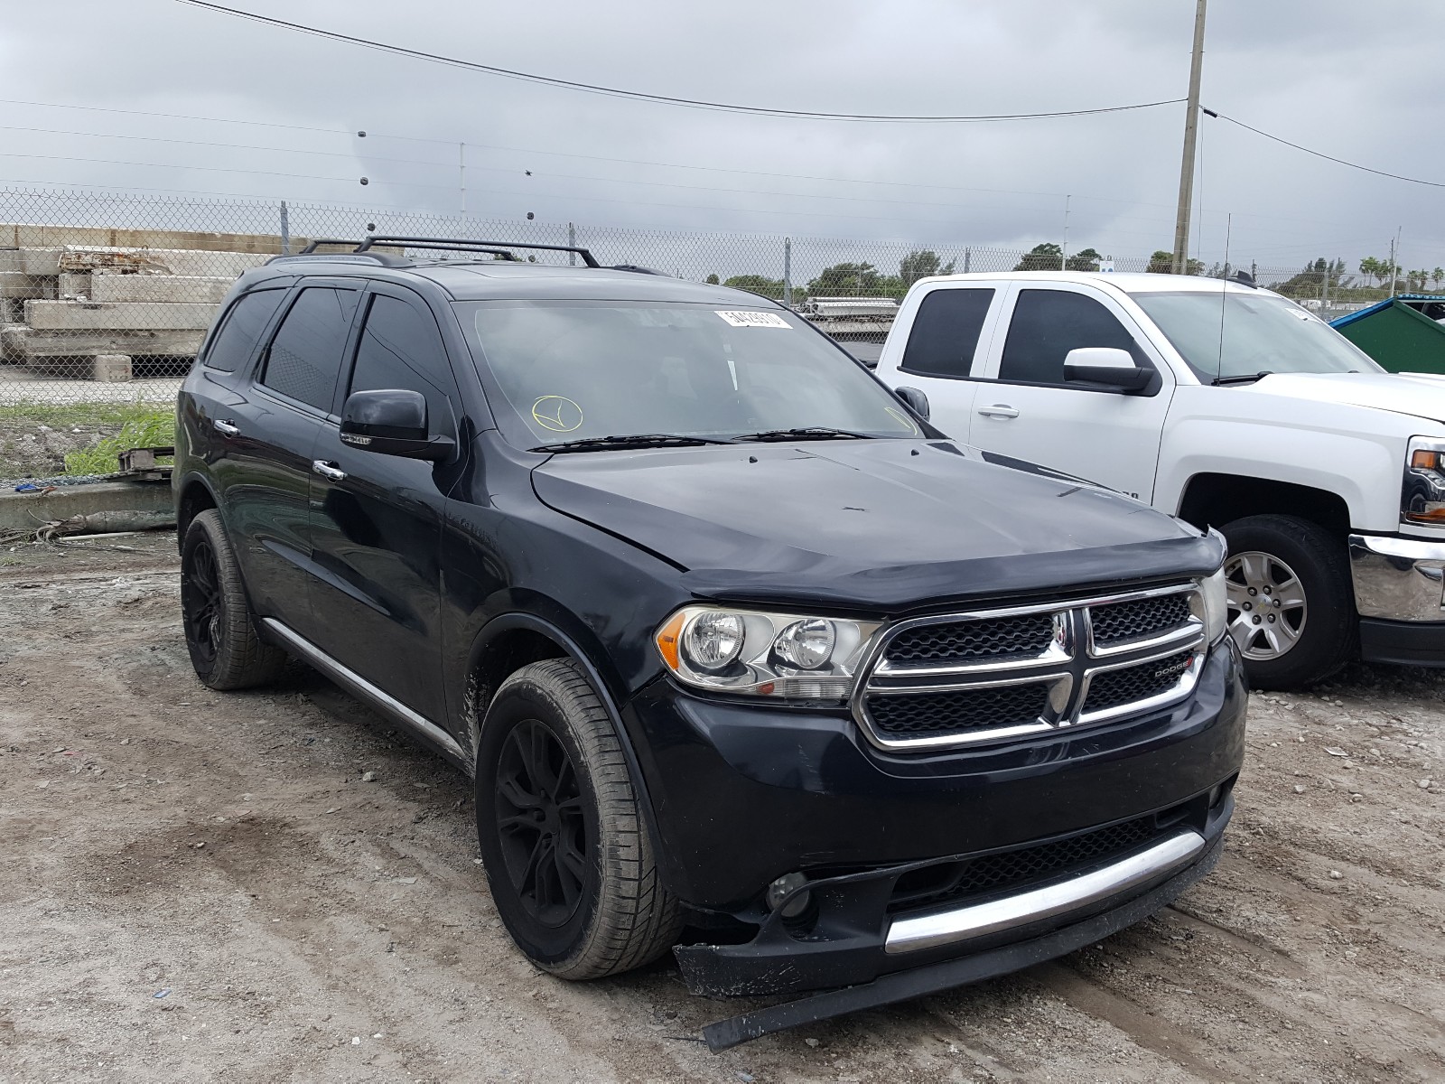
{"type": "Polygon", "coordinates": [[[1103,863],[1136,850],[1159,834],[1155,818],[1140,817],[1066,840],[988,854],[905,873],[893,887],[889,911],[946,903],[1043,882],[1058,873],[1103,863]]]}

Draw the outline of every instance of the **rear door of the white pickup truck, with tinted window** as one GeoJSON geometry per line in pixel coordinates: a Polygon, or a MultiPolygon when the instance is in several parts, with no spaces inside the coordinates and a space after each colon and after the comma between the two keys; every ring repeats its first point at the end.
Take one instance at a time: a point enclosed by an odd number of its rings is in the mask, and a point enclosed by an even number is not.
{"type": "Polygon", "coordinates": [[[929,421],[955,441],[968,441],[974,392],[1006,283],[939,282],[910,296],[899,312],[907,341],[892,335],[879,358],[889,387],[918,387],[928,396],[929,421]]]}

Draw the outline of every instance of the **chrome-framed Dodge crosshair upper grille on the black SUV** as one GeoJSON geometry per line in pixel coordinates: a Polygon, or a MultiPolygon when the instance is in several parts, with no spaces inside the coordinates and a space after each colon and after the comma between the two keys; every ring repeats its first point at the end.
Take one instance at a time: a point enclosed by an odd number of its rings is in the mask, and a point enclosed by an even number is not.
{"type": "Polygon", "coordinates": [[[1095,724],[1194,689],[1194,584],[900,621],[864,663],[853,711],[876,746],[954,747],[1095,724]]]}

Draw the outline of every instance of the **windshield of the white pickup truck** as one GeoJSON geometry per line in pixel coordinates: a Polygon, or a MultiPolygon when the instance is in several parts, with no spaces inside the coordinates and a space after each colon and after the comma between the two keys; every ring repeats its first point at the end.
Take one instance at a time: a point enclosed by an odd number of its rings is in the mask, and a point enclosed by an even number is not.
{"type": "Polygon", "coordinates": [[[1204,383],[1260,373],[1384,371],[1322,319],[1272,293],[1159,291],[1129,296],[1204,383]]]}

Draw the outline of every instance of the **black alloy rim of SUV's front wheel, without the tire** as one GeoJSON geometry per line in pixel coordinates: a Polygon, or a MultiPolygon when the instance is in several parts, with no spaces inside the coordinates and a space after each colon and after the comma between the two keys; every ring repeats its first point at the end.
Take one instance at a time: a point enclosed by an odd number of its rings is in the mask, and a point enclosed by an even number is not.
{"type": "Polygon", "coordinates": [[[587,892],[595,834],[588,833],[577,767],[540,721],[519,723],[497,759],[497,833],[522,908],[555,929],[587,892]]]}

